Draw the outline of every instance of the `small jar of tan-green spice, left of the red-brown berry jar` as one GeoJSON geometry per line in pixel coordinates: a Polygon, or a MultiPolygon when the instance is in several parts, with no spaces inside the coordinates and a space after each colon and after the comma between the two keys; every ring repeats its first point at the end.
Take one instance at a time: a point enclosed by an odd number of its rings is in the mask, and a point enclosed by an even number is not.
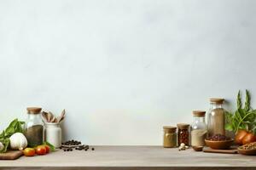
{"type": "Polygon", "coordinates": [[[164,129],[164,148],[173,148],[177,147],[177,127],[165,126],[164,129]]]}

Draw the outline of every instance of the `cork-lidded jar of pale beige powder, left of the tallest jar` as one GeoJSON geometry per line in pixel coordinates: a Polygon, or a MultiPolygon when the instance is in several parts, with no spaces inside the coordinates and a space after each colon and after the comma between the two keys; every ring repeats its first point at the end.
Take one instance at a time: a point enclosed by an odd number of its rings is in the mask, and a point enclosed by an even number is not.
{"type": "Polygon", "coordinates": [[[207,124],[205,122],[206,111],[193,111],[193,123],[191,125],[191,145],[204,146],[207,138],[207,124]]]}

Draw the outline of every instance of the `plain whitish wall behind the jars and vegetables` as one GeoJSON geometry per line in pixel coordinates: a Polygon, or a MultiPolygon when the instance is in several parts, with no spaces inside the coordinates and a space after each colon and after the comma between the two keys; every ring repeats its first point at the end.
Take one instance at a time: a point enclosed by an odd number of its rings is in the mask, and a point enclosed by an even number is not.
{"type": "Polygon", "coordinates": [[[255,9],[253,0],[0,1],[0,129],[38,105],[67,110],[65,139],[161,144],[163,125],[191,122],[209,97],[256,94],[255,9]]]}

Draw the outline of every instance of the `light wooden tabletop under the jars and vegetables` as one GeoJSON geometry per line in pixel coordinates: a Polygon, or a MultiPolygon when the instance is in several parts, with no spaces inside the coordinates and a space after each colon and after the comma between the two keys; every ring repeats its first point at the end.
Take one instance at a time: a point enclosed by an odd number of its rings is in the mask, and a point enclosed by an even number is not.
{"type": "Polygon", "coordinates": [[[95,150],[57,150],[46,156],[0,161],[0,169],[256,169],[256,156],[212,154],[160,146],[95,146],[95,150]],[[188,168],[189,167],[189,168],[188,168]]]}

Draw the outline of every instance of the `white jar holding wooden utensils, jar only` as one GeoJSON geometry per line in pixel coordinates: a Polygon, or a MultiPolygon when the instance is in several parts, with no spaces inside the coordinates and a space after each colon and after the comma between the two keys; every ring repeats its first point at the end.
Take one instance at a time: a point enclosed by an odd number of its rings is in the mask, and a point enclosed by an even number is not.
{"type": "Polygon", "coordinates": [[[45,141],[53,144],[55,148],[61,147],[61,126],[59,122],[45,122],[45,141]]]}

